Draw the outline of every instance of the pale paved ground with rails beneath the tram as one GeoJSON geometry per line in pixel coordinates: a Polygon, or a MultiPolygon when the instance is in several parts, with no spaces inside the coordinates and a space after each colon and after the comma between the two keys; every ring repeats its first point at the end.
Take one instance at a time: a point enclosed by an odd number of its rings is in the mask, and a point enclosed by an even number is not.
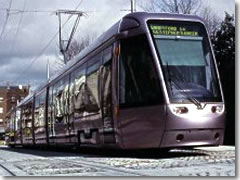
{"type": "Polygon", "coordinates": [[[84,149],[49,151],[0,146],[1,176],[235,176],[235,148],[170,152],[84,149]]]}

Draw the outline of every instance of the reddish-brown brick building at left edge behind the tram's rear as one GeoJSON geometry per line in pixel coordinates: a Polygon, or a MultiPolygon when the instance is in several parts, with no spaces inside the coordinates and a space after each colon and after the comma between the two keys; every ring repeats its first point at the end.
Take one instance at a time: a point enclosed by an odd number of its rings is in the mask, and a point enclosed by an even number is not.
{"type": "Polygon", "coordinates": [[[28,94],[28,86],[0,86],[0,140],[4,138],[7,113],[28,94]]]}

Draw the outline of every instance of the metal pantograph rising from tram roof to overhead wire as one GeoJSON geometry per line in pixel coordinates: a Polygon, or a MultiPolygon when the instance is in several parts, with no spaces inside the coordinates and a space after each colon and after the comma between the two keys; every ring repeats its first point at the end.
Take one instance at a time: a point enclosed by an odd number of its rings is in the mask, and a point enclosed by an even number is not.
{"type": "Polygon", "coordinates": [[[59,47],[60,47],[60,52],[63,54],[64,64],[66,64],[67,63],[66,52],[68,51],[68,48],[71,44],[73,36],[74,36],[74,34],[77,30],[77,27],[78,27],[78,24],[79,24],[79,21],[80,21],[80,17],[83,16],[84,13],[82,11],[58,10],[56,12],[56,15],[58,16],[58,20],[59,20],[59,47]],[[70,17],[73,16],[73,15],[77,16],[68,40],[63,40],[62,39],[62,20],[61,20],[61,15],[62,14],[68,14],[68,15],[70,15],[70,17]]]}

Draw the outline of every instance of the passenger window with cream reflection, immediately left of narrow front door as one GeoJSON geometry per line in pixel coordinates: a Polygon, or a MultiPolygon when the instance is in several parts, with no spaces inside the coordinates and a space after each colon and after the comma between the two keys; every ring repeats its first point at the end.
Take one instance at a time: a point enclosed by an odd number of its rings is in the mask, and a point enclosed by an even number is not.
{"type": "Polygon", "coordinates": [[[87,68],[87,83],[85,86],[85,107],[88,113],[98,113],[100,110],[99,103],[99,81],[98,81],[98,70],[100,66],[99,59],[100,56],[95,57],[94,59],[88,62],[87,68]]]}

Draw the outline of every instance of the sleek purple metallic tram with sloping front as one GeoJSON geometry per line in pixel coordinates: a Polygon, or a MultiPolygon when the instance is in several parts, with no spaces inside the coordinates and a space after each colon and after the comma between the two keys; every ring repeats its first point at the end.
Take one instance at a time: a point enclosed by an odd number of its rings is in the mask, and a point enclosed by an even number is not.
{"type": "Polygon", "coordinates": [[[224,99],[203,20],[124,16],[25,98],[9,121],[9,146],[222,144],[224,99]]]}

